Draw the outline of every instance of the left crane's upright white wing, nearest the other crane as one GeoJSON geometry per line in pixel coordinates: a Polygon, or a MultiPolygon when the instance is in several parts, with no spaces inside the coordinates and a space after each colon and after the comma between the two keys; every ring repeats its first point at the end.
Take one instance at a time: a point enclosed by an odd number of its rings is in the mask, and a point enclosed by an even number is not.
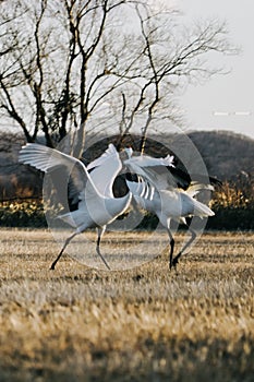
{"type": "Polygon", "coordinates": [[[87,166],[89,176],[97,190],[105,196],[113,198],[112,187],[116,177],[122,169],[122,162],[119,153],[112,143],[109,144],[106,152],[90,162],[87,166]]]}

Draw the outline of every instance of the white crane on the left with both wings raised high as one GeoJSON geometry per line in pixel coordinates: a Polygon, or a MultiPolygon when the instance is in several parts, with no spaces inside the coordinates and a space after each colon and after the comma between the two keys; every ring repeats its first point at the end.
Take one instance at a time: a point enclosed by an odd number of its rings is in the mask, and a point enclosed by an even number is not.
{"type": "Polygon", "coordinates": [[[50,268],[55,270],[64,249],[76,235],[94,227],[98,231],[96,251],[107,268],[110,268],[100,252],[100,240],[106,226],[124,213],[132,199],[131,192],[128,192],[122,198],[113,196],[112,184],[122,169],[122,162],[116,147],[109,144],[108,150],[101,157],[89,164],[88,168],[94,168],[90,174],[88,174],[87,168],[81,160],[36,143],[28,143],[22,147],[19,162],[45,172],[64,167],[71,175],[73,169],[75,169],[77,181],[75,181],[75,184],[71,183],[68,196],[77,202],[77,208],[58,216],[74,227],[75,231],[65,240],[50,268]]]}

